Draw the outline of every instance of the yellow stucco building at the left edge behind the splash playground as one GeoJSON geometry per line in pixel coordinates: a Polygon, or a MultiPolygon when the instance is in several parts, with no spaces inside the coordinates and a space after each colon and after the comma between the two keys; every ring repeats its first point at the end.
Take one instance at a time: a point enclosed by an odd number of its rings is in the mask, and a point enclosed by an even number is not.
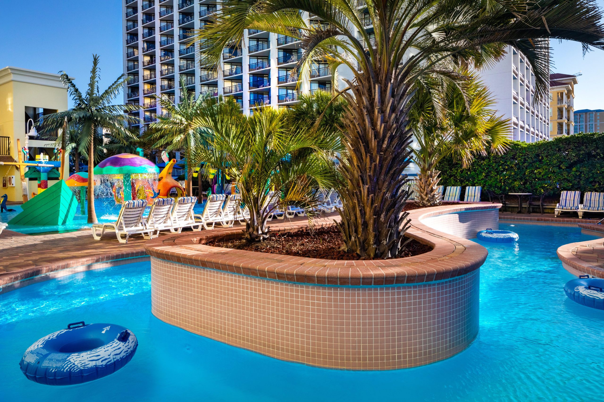
{"type": "MultiPolygon", "coordinates": [[[[54,156],[58,132],[40,133],[40,120],[50,113],[67,110],[67,89],[60,75],[33,71],[16,67],[0,69],[0,196],[8,195],[8,201],[21,202],[21,174],[14,165],[6,163],[19,161],[17,140],[25,147],[28,137],[29,155],[54,156]],[[35,132],[32,129],[35,127],[35,132]],[[27,133],[30,136],[27,136],[27,133]],[[37,133],[35,136],[33,133],[37,133]]],[[[24,159],[25,159],[24,158],[24,159]]],[[[63,174],[69,176],[69,164],[63,166],[63,174]]],[[[27,180],[28,195],[37,193],[37,180],[27,180]]],[[[49,179],[48,185],[56,180],[49,179]]]]}

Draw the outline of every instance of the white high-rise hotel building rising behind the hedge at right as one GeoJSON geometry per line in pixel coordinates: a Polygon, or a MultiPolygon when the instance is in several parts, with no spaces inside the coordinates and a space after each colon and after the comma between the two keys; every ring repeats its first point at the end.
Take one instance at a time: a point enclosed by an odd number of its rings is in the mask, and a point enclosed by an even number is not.
{"type": "Polygon", "coordinates": [[[495,109],[512,123],[510,139],[550,139],[548,95],[535,101],[535,74],[523,54],[509,47],[503,59],[480,71],[480,78],[496,99],[495,109]]]}

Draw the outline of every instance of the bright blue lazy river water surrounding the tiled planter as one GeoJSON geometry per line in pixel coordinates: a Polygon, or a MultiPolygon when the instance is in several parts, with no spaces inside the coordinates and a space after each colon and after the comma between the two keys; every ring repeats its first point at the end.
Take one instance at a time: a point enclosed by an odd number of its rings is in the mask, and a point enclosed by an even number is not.
{"type": "Polygon", "coordinates": [[[480,333],[451,359],[413,369],[352,372],[282,362],[216,342],[150,313],[149,263],[76,273],[0,295],[0,401],[551,401],[604,392],[604,311],[564,294],[573,278],[556,249],[580,229],[500,225],[513,245],[481,243],[480,333]],[[130,328],[139,346],[109,377],[33,383],[19,360],[69,322],[130,328]]]}

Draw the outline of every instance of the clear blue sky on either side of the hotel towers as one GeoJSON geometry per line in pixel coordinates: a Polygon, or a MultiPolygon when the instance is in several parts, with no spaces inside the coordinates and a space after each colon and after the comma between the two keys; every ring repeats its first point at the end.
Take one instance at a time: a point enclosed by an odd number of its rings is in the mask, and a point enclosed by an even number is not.
{"type": "MultiPolygon", "coordinates": [[[[604,0],[598,0],[604,7],[604,0]]],[[[101,89],[122,73],[121,0],[3,0],[0,68],[68,72],[86,84],[92,54],[101,56],[101,89]]],[[[604,109],[604,51],[583,58],[576,43],[552,42],[553,72],[575,74],[576,109],[604,109]]],[[[120,100],[121,101],[121,98],[120,100]]]]}

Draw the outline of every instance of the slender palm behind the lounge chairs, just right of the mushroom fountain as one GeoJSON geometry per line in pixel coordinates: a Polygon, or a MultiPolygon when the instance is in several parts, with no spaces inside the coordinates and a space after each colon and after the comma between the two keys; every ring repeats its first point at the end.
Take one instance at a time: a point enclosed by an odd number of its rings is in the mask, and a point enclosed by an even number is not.
{"type": "MultiPolygon", "coordinates": [[[[184,78],[181,78],[181,88],[186,88],[184,78]]],[[[189,196],[193,193],[193,172],[201,162],[194,161],[192,152],[199,145],[201,127],[220,101],[222,97],[219,100],[211,95],[196,98],[194,92],[188,91],[183,91],[179,103],[173,103],[164,94],[158,98],[159,105],[169,117],[158,116],[158,121],[150,124],[152,132],[149,139],[155,141],[154,148],[165,148],[168,152],[184,151],[187,159],[185,190],[189,196]]]]}

